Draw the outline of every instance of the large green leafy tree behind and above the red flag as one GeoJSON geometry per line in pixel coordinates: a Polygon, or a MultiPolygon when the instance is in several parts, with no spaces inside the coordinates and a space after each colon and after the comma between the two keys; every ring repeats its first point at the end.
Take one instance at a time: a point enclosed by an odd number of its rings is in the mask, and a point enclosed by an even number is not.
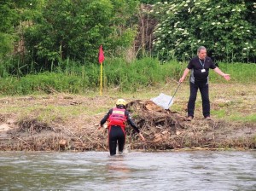
{"type": "Polygon", "coordinates": [[[27,53],[43,69],[67,58],[96,62],[100,44],[105,49],[131,44],[134,30],[127,17],[136,6],[131,0],[48,0],[41,18],[26,29],[27,53]]]}

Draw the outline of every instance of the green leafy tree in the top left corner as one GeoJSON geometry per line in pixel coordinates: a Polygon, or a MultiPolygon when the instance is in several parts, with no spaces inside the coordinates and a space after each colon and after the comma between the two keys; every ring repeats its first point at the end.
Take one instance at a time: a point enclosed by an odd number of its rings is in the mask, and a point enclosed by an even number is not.
{"type": "Polygon", "coordinates": [[[0,76],[5,73],[21,74],[24,70],[24,28],[40,15],[44,0],[3,0],[0,1],[0,76]]]}

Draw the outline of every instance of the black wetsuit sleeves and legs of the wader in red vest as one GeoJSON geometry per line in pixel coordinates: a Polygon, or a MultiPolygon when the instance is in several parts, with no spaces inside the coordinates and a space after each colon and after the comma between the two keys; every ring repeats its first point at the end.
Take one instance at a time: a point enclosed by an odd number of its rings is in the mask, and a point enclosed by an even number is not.
{"type": "MultiPolygon", "coordinates": [[[[107,122],[107,120],[109,119],[112,113],[113,113],[113,109],[110,109],[108,113],[104,116],[104,118],[101,120],[101,125],[107,122]]],[[[125,110],[125,119],[128,122],[128,124],[131,124],[131,127],[134,130],[136,130],[137,133],[140,132],[140,130],[132,121],[129,112],[126,110],[125,110]]],[[[110,155],[116,154],[117,143],[119,145],[119,152],[123,152],[125,147],[125,128],[122,128],[120,125],[112,124],[111,126],[108,126],[108,146],[109,146],[110,155]]]]}

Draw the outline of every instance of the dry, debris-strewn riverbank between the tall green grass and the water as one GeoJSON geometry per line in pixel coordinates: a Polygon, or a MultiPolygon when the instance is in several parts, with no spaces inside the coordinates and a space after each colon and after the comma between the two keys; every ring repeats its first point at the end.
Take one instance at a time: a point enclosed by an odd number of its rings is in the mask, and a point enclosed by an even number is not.
{"type": "MultiPolygon", "coordinates": [[[[211,84],[210,87],[211,122],[202,119],[200,96],[196,102],[195,120],[184,120],[189,98],[189,85],[184,83],[177,91],[171,113],[131,109],[147,141],[140,142],[128,128],[127,145],[131,149],[146,150],[255,148],[255,84],[225,83],[211,84]]],[[[93,91],[86,95],[3,96],[0,99],[0,149],[107,150],[107,131],[96,129],[116,99],[147,102],[160,93],[172,96],[176,88],[177,83],[170,81],[158,88],[134,93],[103,91],[102,96],[93,91]]]]}

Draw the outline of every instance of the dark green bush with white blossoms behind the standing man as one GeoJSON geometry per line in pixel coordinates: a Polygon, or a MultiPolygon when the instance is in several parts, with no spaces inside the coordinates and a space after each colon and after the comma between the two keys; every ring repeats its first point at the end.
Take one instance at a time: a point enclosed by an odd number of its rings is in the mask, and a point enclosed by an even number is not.
{"type": "Polygon", "coordinates": [[[155,3],[159,20],[154,53],[161,59],[187,60],[207,47],[218,61],[256,61],[256,3],[253,0],[173,0],[155,3]]]}

